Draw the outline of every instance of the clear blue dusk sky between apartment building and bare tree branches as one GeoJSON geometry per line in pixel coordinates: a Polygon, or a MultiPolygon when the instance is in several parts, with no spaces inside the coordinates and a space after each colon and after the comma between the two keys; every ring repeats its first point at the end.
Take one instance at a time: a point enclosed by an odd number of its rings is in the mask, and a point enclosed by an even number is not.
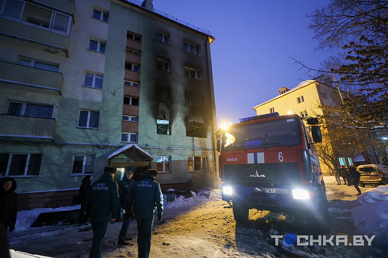
{"type": "Polygon", "coordinates": [[[311,79],[290,57],[319,68],[330,53],[306,26],[328,0],[154,0],[154,8],[211,31],[218,127],[256,115],[253,107],[280,87],[311,79]]]}

